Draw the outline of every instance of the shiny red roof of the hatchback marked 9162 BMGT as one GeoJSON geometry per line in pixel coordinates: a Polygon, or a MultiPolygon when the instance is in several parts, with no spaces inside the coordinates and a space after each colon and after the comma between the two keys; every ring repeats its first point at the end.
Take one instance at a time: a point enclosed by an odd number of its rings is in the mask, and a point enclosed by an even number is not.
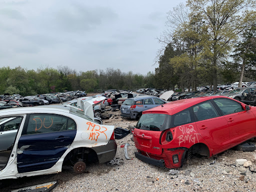
{"type": "Polygon", "coordinates": [[[180,100],[168,102],[163,105],[156,106],[148,110],[144,110],[142,114],[152,112],[152,113],[163,113],[163,114],[172,115],[190,106],[193,106],[199,102],[210,100],[212,98],[229,98],[229,97],[217,95],[217,96],[202,96],[202,97],[196,97],[196,98],[180,99],[180,100]]]}

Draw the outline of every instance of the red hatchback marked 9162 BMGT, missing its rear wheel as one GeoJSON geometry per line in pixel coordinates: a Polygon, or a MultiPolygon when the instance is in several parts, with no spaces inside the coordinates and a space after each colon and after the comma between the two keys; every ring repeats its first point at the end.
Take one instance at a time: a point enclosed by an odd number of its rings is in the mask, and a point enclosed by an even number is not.
{"type": "Polygon", "coordinates": [[[256,106],[225,96],[181,99],[142,112],[135,156],[177,168],[192,153],[212,156],[256,136],[256,106]]]}

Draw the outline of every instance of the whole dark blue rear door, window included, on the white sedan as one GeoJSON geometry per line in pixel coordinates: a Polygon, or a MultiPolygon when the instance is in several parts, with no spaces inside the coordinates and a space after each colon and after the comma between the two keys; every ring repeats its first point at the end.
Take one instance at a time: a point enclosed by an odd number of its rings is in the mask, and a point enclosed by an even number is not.
{"type": "Polygon", "coordinates": [[[73,119],[57,114],[30,114],[18,140],[17,170],[30,172],[52,167],[76,135],[73,119]]]}

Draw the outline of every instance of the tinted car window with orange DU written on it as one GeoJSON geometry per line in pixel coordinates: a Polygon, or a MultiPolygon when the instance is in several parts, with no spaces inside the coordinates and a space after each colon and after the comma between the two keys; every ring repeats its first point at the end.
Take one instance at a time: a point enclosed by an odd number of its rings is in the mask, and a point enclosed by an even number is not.
{"type": "Polygon", "coordinates": [[[23,134],[55,132],[76,129],[75,122],[61,115],[31,114],[29,116],[26,132],[23,134]]]}

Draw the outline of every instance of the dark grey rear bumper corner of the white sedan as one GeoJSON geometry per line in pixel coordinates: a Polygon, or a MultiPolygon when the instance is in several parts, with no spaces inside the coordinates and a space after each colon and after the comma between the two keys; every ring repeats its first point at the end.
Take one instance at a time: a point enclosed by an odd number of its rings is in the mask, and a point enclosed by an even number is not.
{"type": "Polygon", "coordinates": [[[115,140],[109,140],[106,145],[91,148],[97,153],[98,162],[103,163],[114,158],[117,145],[115,140]]]}

